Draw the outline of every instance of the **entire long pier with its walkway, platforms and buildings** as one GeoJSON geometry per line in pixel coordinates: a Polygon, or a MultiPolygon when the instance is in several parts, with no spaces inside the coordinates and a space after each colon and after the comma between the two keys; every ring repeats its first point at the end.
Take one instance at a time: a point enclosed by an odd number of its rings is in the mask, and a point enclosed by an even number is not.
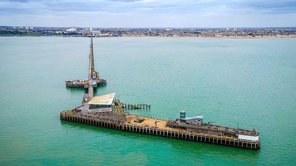
{"type": "Polygon", "coordinates": [[[115,93],[94,96],[94,88],[106,85],[106,80],[99,79],[99,73],[94,69],[92,36],[90,43],[89,80],[66,81],[67,87],[88,88],[88,93],[84,94],[82,105],[62,111],[60,113],[61,120],[167,138],[260,149],[259,129],[257,131],[255,129],[236,129],[212,125],[210,122],[203,123],[204,116],[186,117],[185,109],[180,111],[180,119],[158,119],[152,118],[150,114],[147,117],[138,116],[125,112],[124,107],[127,109],[145,109],[145,107],[150,109],[150,105],[121,102],[114,98],[115,93]]]}

